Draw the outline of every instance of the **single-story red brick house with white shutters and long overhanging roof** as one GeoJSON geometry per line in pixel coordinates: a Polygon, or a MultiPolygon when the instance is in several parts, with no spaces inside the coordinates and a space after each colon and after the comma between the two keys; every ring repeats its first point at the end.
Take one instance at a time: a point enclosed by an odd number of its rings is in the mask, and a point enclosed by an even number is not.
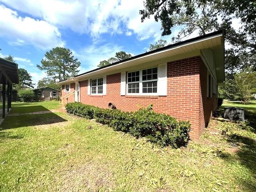
{"type": "Polygon", "coordinates": [[[122,60],[59,82],[66,102],[123,111],[153,110],[191,122],[198,139],[217,108],[224,83],[224,31],[122,60]]]}

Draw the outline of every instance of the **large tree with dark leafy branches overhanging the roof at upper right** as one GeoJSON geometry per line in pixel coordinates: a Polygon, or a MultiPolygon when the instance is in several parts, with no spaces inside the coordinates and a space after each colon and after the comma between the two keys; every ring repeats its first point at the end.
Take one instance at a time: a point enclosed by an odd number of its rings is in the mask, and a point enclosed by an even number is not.
{"type": "Polygon", "coordinates": [[[226,40],[232,45],[230,51],[234,53],[230,56],[256,54],[255,0],[146,0],[140,14],[142,22],[150,16],[157,22],[160,20],[163,36],[171,34],[173,26],[181,26],[182,30],[173,41],[180,41],[194,31],[206,34],[224,28],[226,40]],[[233,19],[240,21],[238,30],[232,26],[233,19]]]}

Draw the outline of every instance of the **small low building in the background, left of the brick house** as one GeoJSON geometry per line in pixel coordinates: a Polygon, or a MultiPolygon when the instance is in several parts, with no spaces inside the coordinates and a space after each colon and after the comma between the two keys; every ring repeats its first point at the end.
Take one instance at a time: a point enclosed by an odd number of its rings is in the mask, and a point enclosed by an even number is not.
{"type": "Polygon", "coordinates": [[[41,101],[50,101],[60,98],[60,91],[50,87],[40,87],[34,89],[35,97],[41,101]]]}

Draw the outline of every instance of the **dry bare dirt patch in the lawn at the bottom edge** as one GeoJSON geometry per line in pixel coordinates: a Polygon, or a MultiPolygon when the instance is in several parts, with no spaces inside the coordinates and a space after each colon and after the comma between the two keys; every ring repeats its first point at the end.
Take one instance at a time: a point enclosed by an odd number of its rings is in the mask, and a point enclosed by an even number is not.
{"type": "Polygon", "coordinates": [[[71,167],[62,176],[61,192],[92,191],[112,188],[114,184],[113,174],[105,164],[89,163],[77,168],[71,167]]]}

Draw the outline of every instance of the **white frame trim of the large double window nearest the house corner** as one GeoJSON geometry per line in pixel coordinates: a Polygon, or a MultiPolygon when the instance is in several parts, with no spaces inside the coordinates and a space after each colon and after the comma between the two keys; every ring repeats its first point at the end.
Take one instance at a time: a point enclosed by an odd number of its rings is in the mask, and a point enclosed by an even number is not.
{"type": "Polygon", "coordinates": [[[152,66],[149,68],[143,68],[140,70],[133,70],[133,71],[128,71],[127,75],[126,75],[126,95],[142,95],[142,96],[158,96],[158,78],[159,78],[159,68],[158,66],[152,66]],[[153,79],[153,80],[146,80],[146,81],[142,81],[142,70],[145,69],[152,69],[152,68],[157,68],[157,79],[153,79]],[[139,83],[139,93],[128,93],[128,73],[131,72],[136,72],[136,71],[140,71],[140,81],[136,81],[136,82],[129,82],[129,84],[131,83],[139,83]],[[143,82],[152,82],[152,81],[156,81],[157,82],[157,92],[156,93],[142,93],[142,83],[143,82]]]}

